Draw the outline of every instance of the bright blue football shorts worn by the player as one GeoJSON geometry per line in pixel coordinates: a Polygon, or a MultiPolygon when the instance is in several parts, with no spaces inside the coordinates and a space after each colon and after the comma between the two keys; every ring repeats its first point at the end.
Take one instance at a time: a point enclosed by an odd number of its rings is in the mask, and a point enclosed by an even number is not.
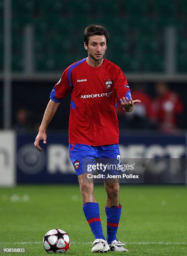
{"type": "Polygon", "coordinates": [[[88,172],[83,159],[88,159],[89,164],[95,164],[96,159],[116,159],[119,162],[120,152],[118,144],[106,146],[90,146],[86,144],[69,143],[69,156],[77,176],[88,172]]]}

